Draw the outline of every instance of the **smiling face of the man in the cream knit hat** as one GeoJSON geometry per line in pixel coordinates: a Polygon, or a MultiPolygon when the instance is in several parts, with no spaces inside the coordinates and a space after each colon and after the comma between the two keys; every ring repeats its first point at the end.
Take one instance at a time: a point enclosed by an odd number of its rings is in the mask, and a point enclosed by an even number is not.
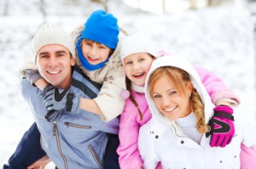
{"type": "Polygon", "coordinates": [[[74,58],[59,44],[49,44],[38,50],[36,65],[44,79],[55,87],[70,87],[74,58]]]}

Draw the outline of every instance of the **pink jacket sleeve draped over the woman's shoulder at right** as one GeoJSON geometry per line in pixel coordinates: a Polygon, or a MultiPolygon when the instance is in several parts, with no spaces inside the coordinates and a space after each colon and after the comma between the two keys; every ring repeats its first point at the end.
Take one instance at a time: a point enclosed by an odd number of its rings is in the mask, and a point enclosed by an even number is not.
{"type": "Polygon", "coordinates": [[[240,104],[240,100],[236,94],[226,86],[220,77],[213,74],[210,70],[199,66],[195,66],[195,70],[201,77],[201,82],[206,87],[213,104],[216,105],[221,99],[232,99],[235,101],[235,104],[240,104]]]}

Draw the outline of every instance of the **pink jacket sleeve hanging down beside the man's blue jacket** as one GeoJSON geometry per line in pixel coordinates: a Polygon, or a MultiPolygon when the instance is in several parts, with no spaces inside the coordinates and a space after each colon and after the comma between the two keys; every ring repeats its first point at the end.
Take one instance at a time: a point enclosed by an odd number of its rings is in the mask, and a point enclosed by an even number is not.
{"type": "Polygon", "coordinates": [[[122,169],[139,168],[143,161],[138,152],[137,139],[140,124],[137,122],[137,108],[127,100],[119,124],[119,166],[122,169]]]}

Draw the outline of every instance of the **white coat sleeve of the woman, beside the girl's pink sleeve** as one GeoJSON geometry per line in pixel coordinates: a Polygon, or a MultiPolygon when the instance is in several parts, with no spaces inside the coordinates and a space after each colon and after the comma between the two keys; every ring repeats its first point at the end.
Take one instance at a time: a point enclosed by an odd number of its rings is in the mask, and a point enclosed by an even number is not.
{"type": "Polygon", "coordinates": [[[158,158],[154,153],[153,144],[150,137],[150,121],[143,125],[139,131],[138,148],[143,159],[143,168],[154,169],[158,165],[158,158]]]}

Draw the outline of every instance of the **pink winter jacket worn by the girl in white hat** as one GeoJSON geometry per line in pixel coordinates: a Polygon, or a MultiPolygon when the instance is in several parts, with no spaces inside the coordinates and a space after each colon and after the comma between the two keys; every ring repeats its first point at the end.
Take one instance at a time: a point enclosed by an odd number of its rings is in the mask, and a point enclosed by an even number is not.
{"type": "MultiPolygon", "coordinates": [[[[240,103],[236,94],[233,93],[218,76],[215,76],[211,71],[201,67],[195,67],[195,69],[201,76],[201,81],[207,88],[212,103],[216,104],[219,99],[234,99],[237,104],[240,103]]],[[[138,169],[140,166],[143,166],[143,161],[137,147],[139,128],[151,119],[151,113],[148,110],[148,103],[144,93],[136,93],[134,91],[131,93],[137,101],[139,109],[142,111],[143,119],[140,119],[137,107],[132,104],[130,99],[126,99],[125,109],[120,118],[120,144],[117,149],[121,169],[138,169]]]]}

